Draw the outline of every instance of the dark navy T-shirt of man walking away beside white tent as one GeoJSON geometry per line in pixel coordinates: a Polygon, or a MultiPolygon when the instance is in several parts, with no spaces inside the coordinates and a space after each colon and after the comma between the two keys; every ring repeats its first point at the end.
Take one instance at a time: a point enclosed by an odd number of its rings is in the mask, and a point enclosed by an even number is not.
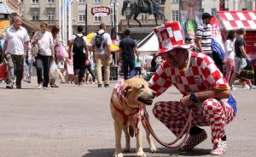
{"type": "Polygon", "coordinates": [[[135,59],[134,48],[137,48],[137,45],[131,37],[122,39],[119,43],[119,48],[122,49],[122,59],[135,59]]]}

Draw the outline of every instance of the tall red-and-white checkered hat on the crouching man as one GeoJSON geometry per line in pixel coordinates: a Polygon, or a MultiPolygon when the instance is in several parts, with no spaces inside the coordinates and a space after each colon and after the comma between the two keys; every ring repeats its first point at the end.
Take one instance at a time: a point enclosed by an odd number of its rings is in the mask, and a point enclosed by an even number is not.
{"type": "Polygon", "coordinates": [[[156,55],[161,55],[175,48],[189,49],[192,47],[184,43],[183,31],[177,21],[155,27],[154,33],[158,37],[160,48],[160,51],[156,55]]]}

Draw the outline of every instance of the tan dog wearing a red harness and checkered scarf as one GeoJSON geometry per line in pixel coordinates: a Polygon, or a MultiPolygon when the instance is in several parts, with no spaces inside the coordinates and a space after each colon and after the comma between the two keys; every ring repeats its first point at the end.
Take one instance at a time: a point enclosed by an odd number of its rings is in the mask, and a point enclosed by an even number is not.
{"type": "MultiPolygon", "coordinates": [[[[121,149],[122,130],[125,132],[125,152],[129,152],[130,135],[133,137],[134,131],[137,131],[137,156],[146,157],[142,146],[141,123],[137,123],[137,115],[142,105],[150,105],[156,93],[148,87],[147,81],[140,78],[131,78],[126,81],[120,81],[111,96],[110,110],[114,121],[115,132],[115,153],[114,157],[123,157],[121,149]],[[129,131],[128,131],[129,128],[129,131]],[[130,135],[129,135],[130,134],[130,135]]],[[[144,125],[143,125],[144,126],[144,125]]],[[[151,153],[157,152],[154,143],[150,138],[148,128],[144,126],[147,133],[147,140],[151,153]]]]}

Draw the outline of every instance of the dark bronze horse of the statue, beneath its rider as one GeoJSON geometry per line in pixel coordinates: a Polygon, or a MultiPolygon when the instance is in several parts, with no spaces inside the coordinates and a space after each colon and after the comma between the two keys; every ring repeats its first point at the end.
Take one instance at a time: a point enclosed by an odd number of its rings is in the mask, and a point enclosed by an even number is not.
{"type": "MultiPolygon", "coordinates": [[[[139,26],[141,27],[142,24],[141,24],[141,22],[139,20],[137,20],[137,16],[140,13],[146,13],[146,14],[150,13],[150,11],[149,11],[150,8],[148,7],[147,4],[145,4],[143,8],[139,8],[137,0],[125,0],[123,2],[122,15],[125,14],[125,9],[127,8],[129,3],[130,3],[131,13],[127,16],[127,19],[128,19],[127,25],[130,26],[129,20],[131,20],[131,17],[133,16],[133,20],[136,20],[137,23],[139,24],[139,26]]],[[[160,3],[159,3],[159,0],[152,1],[152,6],[153,6],[153,14],[154,14],[155,24],[158,25],[157,24],[157,16],[158,15],[162,15],[164,17],[165,22],[166,22],[165,14],[160,13],[160,3]]]]}

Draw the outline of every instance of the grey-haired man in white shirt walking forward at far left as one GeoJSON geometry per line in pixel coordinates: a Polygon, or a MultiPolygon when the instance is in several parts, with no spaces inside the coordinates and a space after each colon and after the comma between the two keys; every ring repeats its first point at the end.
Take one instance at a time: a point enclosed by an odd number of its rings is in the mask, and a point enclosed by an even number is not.
{"type": "Polygon", "coordinates": [[[29,36],[24,27],[21,26],[19,16],[13,17],[13,24],[7,29],[4,36],[2,57],[6,54],[8,63],[8,77],[6,88],[12,89],[14,83],[16,88],[21,88],[23,74],[24,55],[27,57],[29,36]],[[15,71],[16,67],[16,71],[15,71]],[[16,74],[16,81],[15,81],[16,74]]]}

